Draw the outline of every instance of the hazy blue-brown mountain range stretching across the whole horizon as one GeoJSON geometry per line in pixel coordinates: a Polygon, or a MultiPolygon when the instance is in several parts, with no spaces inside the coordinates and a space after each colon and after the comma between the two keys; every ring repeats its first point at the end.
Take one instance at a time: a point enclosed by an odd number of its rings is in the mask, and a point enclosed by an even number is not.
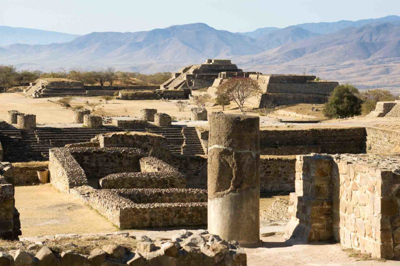
{"type": "Polygon", "coordinates": [[[315,74],[360,88],[400,92],[400,17],[395,15],[251,32],[217,30],[204,23],[81,36],[18,28],[11,38],[9,31],[0,26],[0,36],[7,36],[0,40],[0,62],[18,69],[114,66],[150,73],[174,71],[206,58],[229,58],[243,70],[315,74]],[[48,38],[40,37],[45,35],[48,38]]]}

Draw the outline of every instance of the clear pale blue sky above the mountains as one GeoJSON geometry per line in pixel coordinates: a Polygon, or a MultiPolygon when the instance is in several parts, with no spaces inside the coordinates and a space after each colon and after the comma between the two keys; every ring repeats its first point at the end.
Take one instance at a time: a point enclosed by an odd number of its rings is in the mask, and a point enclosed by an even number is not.
{"type": "Polygon", "coordinates": [[[0,0],[0,25],[85,34],[204,22],[217,29],[400,15],[400,0],[0,0]]]}

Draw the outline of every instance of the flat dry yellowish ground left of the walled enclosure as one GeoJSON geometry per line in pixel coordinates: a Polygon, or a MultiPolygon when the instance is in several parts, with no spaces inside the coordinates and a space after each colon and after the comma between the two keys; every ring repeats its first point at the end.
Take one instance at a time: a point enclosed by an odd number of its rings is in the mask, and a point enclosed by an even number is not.
{"type": "Polygon", "coordinates": [[[80,199],[60,193],[50,184],[16,186],[15,206],[20,213],[22,237],[117,230],[80,199]]]}

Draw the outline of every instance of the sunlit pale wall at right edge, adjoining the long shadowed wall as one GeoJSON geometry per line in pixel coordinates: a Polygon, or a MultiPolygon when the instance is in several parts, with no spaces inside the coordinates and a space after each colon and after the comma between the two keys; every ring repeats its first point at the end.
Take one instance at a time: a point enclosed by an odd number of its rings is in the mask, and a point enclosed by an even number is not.
{"type": "Polygon", "coordinates": [[[375,127],[366,127],[367,153],[400,152],[400,132],[375,127]]]}

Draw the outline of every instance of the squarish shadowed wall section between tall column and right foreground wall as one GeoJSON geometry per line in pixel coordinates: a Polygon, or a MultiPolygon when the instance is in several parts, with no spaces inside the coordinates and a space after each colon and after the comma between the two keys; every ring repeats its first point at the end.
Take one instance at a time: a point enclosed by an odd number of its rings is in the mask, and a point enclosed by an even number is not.
{"type": "Polygon", "coordinates": [[[294,191],[296,157],[260,156],[259,181],[261,192],[294,191]]]}

